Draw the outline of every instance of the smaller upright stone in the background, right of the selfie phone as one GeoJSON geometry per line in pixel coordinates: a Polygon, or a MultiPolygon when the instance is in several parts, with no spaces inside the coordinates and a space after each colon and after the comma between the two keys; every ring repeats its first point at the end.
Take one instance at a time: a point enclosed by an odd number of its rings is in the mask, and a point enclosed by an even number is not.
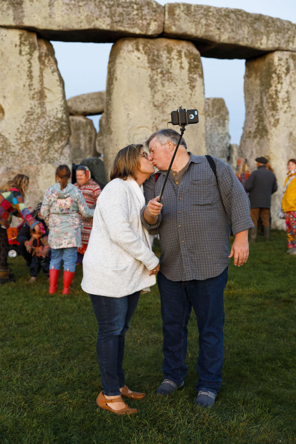
{"type": "Polygon", "coordinates": [[[205,99],[205,147],[207,154],[231,165],[229,115],[224,99],[205,99]]]}

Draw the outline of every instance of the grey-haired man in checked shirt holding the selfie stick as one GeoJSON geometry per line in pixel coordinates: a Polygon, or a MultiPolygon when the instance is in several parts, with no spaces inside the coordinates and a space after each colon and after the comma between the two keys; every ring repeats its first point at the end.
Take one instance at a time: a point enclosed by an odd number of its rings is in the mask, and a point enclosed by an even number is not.
{"type": "Polygon", "coordinates": [[[205,156],[187,153],[184,139],[174,159],[162,203],[158,202],[178,139],[176,131],[160,130],[147,140],[152,162],[161,170],[146,182],[146,206],[141,213],[142,223],[151,234],[155,234],[159,225],[162,248],[158,287],[165,379],[157,393],[169,394],[184,383],[187,324],[193,307],[199,330],[195,404],[210,407],[221,386],[223,292],[229,258],[234,257],[238,266],[247,261],[248,230],[253,224],[249,199],[230,167],[213,158],[216,180],[205,156]],[[230,255],[229,218],[235,235],[230,255]]]}

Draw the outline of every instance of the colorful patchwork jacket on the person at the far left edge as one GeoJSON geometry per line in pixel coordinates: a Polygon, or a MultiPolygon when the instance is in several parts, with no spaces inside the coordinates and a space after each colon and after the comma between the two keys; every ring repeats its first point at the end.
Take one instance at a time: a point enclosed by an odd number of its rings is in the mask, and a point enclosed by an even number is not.
{"type": "Polygon", "coordinates": [[[9,228],[12,213],[15,210],[17,210],[18,215],[28,223],[30,228],[34,228],[34,226],[39,223],[32,217],[30,211],[25,206],[20,190],[10,188],[8,191],[2,191],[0,194],[0,224],[9,228]]]}

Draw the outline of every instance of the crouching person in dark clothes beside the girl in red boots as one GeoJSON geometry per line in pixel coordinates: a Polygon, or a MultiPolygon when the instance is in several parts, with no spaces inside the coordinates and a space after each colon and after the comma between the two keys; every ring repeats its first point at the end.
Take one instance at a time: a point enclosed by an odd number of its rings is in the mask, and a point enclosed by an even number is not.
{"type": "Polygon", "coordinates": [[[45,276],[49,276],[50,247],[48,245],[48,236],[45,233],[43,224],[39,224],[39,226],[39,233],[37,233],[34,228],[31,229],[31,238],[24,242],[27,252],[32,255],[32,261],[30,264],[31,278],[28,281],[30,284],[36,282],[41,268],[45,276]]]}

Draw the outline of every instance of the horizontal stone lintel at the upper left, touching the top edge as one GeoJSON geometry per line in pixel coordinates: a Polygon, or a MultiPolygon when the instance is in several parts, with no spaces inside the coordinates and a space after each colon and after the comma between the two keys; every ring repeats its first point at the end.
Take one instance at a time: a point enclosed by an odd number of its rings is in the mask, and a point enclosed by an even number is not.
{"type": "Polygon", "coordinates": [[[65,42],[156,37],[164,21],[164,7],[154,0],[0,0],[0,12],[0,26],[65,42]]]}

